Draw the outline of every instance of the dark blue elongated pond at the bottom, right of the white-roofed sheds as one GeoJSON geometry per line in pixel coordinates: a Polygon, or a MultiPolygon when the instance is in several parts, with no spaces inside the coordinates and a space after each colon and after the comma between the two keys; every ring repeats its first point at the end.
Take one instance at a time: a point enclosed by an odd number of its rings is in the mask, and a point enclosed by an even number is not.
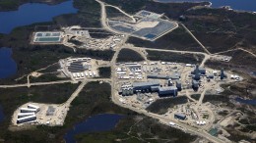
{"type": "Polygon", "coordinates": [[[96,115],[74,125],[74,127],[65,134],[64,139],[66,143],[76,143],[74,138],[76,134],[111,130],[115,127],[119,119],[122,118],[123,116],[112,114],[96,115]]]}

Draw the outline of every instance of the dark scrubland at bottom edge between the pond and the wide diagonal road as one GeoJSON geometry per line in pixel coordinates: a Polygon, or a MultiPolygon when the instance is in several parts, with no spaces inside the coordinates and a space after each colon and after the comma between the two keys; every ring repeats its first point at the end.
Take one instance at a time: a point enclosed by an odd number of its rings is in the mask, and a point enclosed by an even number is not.
{"type": "Polygon", "coordinates": [[[127,117],[120,120],[116,128],[111,131],[79,134],[78,142],[112,143],[112,142],[191,142],[195,136],[185,134],[181,130],[158,123],[156,119],[144,117],[127,117]],[[136,123],[138,122],[138,123],[136,123]],[[136,123],[136,125],[134,125],[136,123]],[[129,132],[130,131],[130,132],[129,132]],[[129,132],[129,133],[128,133],[129,132]]]}

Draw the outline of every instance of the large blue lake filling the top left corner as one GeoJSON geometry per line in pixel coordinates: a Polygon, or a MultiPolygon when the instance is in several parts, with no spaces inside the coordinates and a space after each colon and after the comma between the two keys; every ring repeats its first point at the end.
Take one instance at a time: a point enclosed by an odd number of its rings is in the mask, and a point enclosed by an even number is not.
{"type": "Polygon", "coordinates": [[[69,13],[77,13],[73,1],[58,5],[24,4],[17,11],[0,12],[0,33],[10,33],[12,29],[21,25],[49,22],[53,17],[69,13]]]}

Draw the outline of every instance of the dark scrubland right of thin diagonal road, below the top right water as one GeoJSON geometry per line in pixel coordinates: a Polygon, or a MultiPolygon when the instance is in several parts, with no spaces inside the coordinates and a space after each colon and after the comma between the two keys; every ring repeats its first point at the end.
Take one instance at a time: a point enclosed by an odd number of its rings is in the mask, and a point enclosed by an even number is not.
{"type": "Polygon", "coordinates": [[[184,23],[212,53],[244,48],[255,51],[253,39],[256,16],[224,9],[195,9],[187,11],[184,23]]]}

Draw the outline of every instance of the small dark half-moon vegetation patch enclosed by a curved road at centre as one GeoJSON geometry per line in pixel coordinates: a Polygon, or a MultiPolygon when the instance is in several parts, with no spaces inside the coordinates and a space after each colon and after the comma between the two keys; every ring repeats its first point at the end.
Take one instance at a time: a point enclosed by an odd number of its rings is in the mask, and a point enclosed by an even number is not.
{"type": "Polygon", "coordinates": [[[117,57],[117,62],[141,62],[145,59],[136,51],[131,49],[122,49],[117,57]]]}

